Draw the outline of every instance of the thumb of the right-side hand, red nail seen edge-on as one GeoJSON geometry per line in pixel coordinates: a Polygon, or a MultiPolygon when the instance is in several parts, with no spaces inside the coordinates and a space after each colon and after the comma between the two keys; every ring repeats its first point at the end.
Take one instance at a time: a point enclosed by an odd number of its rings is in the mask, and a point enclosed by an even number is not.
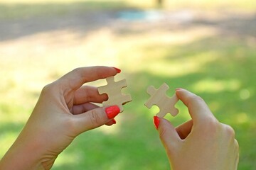
{"type": "Polygon", "coordinates": [[[154,124],[166,152],[173,152],[181,142],[181,138],[178,136],[174,126],[168,120],[157,116],[154,116],[154,124]]]}

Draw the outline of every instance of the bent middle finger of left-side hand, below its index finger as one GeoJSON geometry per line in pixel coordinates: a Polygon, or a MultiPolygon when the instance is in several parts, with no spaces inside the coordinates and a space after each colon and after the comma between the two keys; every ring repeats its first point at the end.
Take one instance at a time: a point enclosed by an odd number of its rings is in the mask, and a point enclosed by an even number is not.
{"type": "Polygon", "coordinates": [[[95,86],[82,86],[75,91],[74,105],[79,105],[86,102],[102,103],[107,101],[107,94],[99,94],[95,86]]]}

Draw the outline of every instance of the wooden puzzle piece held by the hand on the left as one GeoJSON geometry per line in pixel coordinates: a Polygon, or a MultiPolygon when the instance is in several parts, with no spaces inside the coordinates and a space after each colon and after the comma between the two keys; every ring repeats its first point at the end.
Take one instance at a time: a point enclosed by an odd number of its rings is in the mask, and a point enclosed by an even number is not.
{"type": "Polygon", "coordinates": [[[124,111],[122,105],[132,101],[132,97],[129,94],[122,94],[121,90],[127,87],[126,79],[121,81],[114,81],[114,77],[107,77],[107,85],[98,87],[99,94],[107,94],[108,100],[102,103],[103,106],[117,105],[120,108],[120,112],[124,111]]]}

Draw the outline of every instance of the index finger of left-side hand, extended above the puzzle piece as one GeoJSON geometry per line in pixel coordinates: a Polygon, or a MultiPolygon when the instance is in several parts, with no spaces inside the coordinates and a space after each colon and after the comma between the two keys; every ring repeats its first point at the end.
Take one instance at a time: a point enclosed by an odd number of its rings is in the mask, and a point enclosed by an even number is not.
{"type": "Polygon", "coordinates": [[[114,67],[95,66],[80,67],[65,74],[59,79],[61,86],[68,93],[70,90],[77,90],[86,82],[95,81],[97,79],[105,79],[118,73],[114,67]]]}

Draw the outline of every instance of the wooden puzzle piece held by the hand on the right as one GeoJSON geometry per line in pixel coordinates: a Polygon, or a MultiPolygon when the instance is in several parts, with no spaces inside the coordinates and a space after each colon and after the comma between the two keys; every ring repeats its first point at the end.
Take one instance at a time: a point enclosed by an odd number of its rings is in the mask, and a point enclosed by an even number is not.
{"type": "Polygon", "coordinates": [[[175,108],[175,104],[178,102],[176,94],[171,98],[166,96],[166,91],[169,89],[167,84],[162,84],[159,89],[155,89],[154,86],[149,86],[147,93],[151,95],[148,101],[144,104],[147,108],[151,108],[153,105],[159,107],[159,113],[156,115],[164,118],[167,113],[175,116],[178,114],[178,109],[175,108]]]}

